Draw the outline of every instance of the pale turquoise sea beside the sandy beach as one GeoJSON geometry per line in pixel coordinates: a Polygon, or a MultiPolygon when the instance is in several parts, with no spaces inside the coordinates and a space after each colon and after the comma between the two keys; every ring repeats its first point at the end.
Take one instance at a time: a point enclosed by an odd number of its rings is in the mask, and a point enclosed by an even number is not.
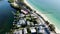
{"type": "Polygon", "coordinates": [[[60,30],[60,0],[27,0],[60,30]]]}

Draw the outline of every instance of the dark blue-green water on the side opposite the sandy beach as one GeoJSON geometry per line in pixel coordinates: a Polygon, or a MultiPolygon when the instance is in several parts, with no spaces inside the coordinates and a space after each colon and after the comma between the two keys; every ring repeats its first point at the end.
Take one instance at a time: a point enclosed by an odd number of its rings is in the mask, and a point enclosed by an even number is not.
{"type": "Polygon", "coordinates": [[[12,28],[12,22],[14,20],[13,9],[8,0],[0,0],[0,34],[9,31],[12,28]]]}

